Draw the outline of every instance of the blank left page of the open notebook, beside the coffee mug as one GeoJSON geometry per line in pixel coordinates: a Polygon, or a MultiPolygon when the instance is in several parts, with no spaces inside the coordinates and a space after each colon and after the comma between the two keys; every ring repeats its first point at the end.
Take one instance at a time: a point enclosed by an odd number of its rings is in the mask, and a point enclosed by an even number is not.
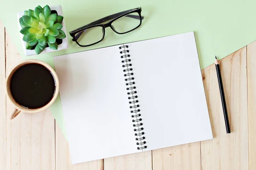
{"type": "Polygon", "coordinates": [[[137,150],[119,45],[54,57],[72,163],[137,150]]]}

